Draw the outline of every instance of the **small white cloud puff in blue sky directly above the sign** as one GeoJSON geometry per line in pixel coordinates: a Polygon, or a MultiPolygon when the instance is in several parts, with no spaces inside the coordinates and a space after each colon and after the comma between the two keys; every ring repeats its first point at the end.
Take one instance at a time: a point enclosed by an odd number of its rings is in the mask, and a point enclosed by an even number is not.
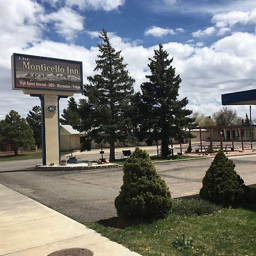
{"type": "Polygon", "coordinates": [[[42,15],[43,22],[54,22],[55,31],[67,40],[73,40],[76,33],[84,28],[84,17],[69,7],[63,7],[56,13],[42,15]]]}

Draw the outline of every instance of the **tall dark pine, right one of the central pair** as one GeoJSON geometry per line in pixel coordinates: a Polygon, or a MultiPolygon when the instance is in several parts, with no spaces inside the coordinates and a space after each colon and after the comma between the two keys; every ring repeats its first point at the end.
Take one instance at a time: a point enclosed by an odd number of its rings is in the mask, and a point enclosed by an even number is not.
{"type": "Polygon", "coordinates": [[[139,138],[148,144],[162,141],[162,156],[169,153],[170,138],[178,138],[186,127],[192,127],[195,119],[190,118],[191,110],[185,109],[187,98],[177,100],[180,88],[180,76],[175,76],[172,59],[162,44],[155,50],[155,55],[148,67],[151,75],[141,85],[141,99],[137,100],[139,108],[139,138]],[[141,120],[141,121],[139,121],[141,120]]]}

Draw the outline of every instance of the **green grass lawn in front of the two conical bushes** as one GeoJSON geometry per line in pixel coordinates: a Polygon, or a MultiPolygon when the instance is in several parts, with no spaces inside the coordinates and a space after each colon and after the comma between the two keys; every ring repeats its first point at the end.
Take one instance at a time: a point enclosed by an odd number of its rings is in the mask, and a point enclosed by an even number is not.
{"type": "MultiPolygon", "coordinates": [[[[151,223],[121,229],[112,225],[118,222],[113,218],[86,226],[144,256],[256,255],[256,201],[247,201],[236,209],[216,208],[216,212],[200,216],[189,215],[186,204],[179,201],[176,209],[181,212],[174,210],[151,223]],[[182,213],[183,208],[188,212],[182,213]]],[[[204,208],[208,209],[207,205],[204,208]]]]}

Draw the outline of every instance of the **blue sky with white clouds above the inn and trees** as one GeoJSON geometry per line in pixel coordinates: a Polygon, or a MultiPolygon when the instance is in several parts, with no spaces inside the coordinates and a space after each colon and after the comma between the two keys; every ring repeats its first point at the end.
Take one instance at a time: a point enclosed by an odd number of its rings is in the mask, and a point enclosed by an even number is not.
{"type": "MultiPolygon", "coordinates": [[[[255,0],[1,0],[0,22],[0,119],[11,109],[26,117],[40,104],[11,90],[14,52],[82,61],[86,82],[102,28],[122,50],[137,91],[159,43],[174,56],[180,97],[195,112],[212,115],[222,93],[256,87],[255,0]]],[[[66,108],[67,100],[60,103],[66,108]]],[[[249,113],[249,106],[230,108],[249,113]]]]}

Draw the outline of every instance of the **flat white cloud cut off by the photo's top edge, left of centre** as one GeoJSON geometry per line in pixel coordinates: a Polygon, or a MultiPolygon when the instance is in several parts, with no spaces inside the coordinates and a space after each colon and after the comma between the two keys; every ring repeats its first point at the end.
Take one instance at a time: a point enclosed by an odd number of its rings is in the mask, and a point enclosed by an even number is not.
{"type": "Polygon", "coordinates": [[[112,11],[124,5],[125,0],[67,0],[68,6],[78,6],[80,9],[112,11]]]}

